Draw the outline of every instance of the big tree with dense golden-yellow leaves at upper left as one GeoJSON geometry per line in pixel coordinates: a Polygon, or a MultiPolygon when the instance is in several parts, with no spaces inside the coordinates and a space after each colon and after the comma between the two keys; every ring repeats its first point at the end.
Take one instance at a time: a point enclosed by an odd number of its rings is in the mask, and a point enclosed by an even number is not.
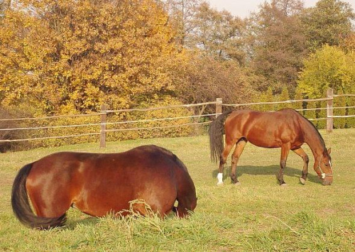
{"type": "Polygon", "coordinates": [[[129,108],[173,90],[176,57],[153,0],[16,1],[0,26],[0,98],[38,113],[129,108]]]}

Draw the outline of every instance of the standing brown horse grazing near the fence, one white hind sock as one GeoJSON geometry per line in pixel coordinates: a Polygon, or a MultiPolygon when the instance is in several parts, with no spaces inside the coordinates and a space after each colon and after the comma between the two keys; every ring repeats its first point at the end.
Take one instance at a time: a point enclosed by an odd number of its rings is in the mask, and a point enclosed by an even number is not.
{"type": "Polygon", "coordinates": [[[294,109],[281,109],[275,112],[253,110],[226,111],[212,122],[209,128],[209,146],[211,158],[219,158],[218,184],[223,184],[223,167],[231,148],[236,145],[231,156],[231,181],[238,185],[236,164],[247,142],[265,148],[281,148],[280,172],[278,181],[284,185],[283,170],[288,153],[293,150],[303,159],[303,171],[300,182],[304,185],[308,174],[308,156],[302,149],[307,143],[315,157],[313,168],[322,179],[322,185],[333,182],[330,148],[325,148],[324,140],[317,128],[294,109]],[[226,145],[223,143],[223,130],[226,145]],[[224,146],[224,148],[223,148],[224,146]]]}

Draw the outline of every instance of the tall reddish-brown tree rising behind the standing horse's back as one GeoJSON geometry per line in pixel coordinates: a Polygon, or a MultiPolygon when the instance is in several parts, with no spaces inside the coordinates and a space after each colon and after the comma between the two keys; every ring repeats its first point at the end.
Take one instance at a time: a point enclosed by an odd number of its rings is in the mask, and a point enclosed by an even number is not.
{"type": "Polygon", "coordinates": [[[265,2],[249,21],[253,35],[251,67],[265,78],[259,91],[272,85],[276,94],[285,87],[295,94],[297,75],[307,54],[305,36],[300,26],[303,10],[299,0],[265,2]]]}

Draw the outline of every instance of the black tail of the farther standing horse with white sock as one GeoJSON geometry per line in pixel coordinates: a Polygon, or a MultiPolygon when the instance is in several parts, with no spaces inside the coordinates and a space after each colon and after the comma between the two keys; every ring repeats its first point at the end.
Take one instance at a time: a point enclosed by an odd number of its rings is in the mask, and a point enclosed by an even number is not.
{"type": "Polygon", "coordinates": [[[217,119],[212,121],[209,125],[209,149],[211,150],[211,160],[212,162],[217,162],[221,156],[224,148],[223,132],[224,132],[224,121],[232,111],[226,111],[220,114],[217,119]]]}

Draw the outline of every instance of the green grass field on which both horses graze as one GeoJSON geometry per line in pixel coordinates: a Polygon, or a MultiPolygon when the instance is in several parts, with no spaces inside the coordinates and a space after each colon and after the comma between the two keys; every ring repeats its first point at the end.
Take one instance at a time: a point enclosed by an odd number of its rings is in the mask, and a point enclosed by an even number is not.
{"type": "MultiPolygon", "coordinates": [[[[280,187],[280,149],[248,144],[230,184],[230,159],[224,186],[217,187],[217,164],[209,159],[207,136],[159,138],[29,150],[0,154],[0,251],[354,251],[355,248],[355,129],[321,131],[332,147],[333,185],[320,184],[312,169],[300,185],[302,160],[290,153],[285,170],[287,187],[280,187]],[[197,188],[197,208],[188,219],[135,217],[94,218],[70,209],[67,226],[37,231],[13,216],[13,178],[26,163],[61,150],[121,152],[155,144],[172,150],[187,165],[197,188]]],[[[133,175],[133,174],[132,174],[133,175]]]]}

